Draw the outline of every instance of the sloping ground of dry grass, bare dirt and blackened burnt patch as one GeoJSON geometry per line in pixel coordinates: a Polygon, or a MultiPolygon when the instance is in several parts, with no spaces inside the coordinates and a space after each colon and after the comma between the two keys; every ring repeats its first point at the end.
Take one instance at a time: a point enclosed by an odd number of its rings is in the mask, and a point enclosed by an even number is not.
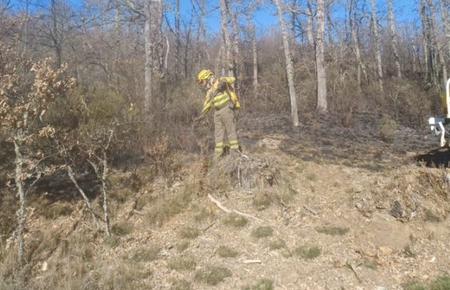
{"type": "MultiPolygon", "coordinates": [[[[245,157],[214,165],[203,151],[181,151],[170,182],[145,182],[142,167],[134,190],[122,182],[127,172],[114,172],[111,190],[121,199],[111,200],[113,237],[94,234],[81,202],[51,217],[30,215],[28,283],[433,289],[450,275],[446,168],[439,167],[448,157],[433,152],[437,143],[425,130],[399,126],[383,140],[379,119],[356,114],[345,127],[330,116],[305,116],[291,128],[281,115],[246,115],[239,122],[245,157]],[[238,174],[254,180],[241,187],[238,174]]],[[[1,269],[12,288],[8,259],[1,269]]]]}

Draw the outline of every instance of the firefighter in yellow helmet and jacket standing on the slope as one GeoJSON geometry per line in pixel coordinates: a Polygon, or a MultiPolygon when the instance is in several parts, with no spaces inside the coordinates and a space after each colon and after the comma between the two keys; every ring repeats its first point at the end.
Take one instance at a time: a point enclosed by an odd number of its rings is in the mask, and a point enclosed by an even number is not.
{"type": "Polygon", "coordinates": [[[209,70],[200,71],[196,78],[197,83],[206,89],[206,98],[200,115],[194,123],[205,118],[209,109],[214,108],[214,158],[218,159],[224,154],[224,147],[229,146],[230,154],[239,154],[239,141],[236,133],[236,123],[233,110],[240,107],[239,100],[232,88],[236,81],[234,77],[214,76],[209,70]]]}

